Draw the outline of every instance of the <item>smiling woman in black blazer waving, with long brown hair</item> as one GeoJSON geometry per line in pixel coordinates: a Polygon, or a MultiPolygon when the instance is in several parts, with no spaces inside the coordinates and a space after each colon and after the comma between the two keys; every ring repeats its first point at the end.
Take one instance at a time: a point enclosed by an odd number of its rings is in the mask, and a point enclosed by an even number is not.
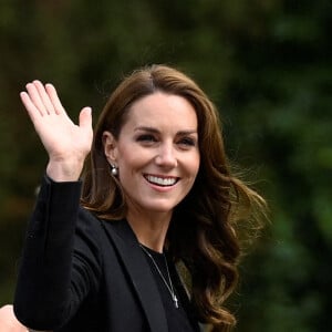
{"type": "Polygon", "coordinates": [[[93,137],[89,107],[76,126],[52,85],[27,91],[49,164],[18,319],[54,331],[230,330],[224,302],[238,278],[237,220],[246,211],[259,221],[264,203],[231,175],[205,93],[172,68],[137,70],[111,95],[93,137]]]}

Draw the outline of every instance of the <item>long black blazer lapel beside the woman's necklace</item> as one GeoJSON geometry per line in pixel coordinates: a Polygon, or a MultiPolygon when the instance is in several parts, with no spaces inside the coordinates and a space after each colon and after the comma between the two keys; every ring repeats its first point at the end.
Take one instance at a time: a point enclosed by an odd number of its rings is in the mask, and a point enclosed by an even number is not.
{"type": "Polygon", "coordinates": [[[128,222],[126,220],[103,221],[102,225],[108,238],[118,250],[118,256],[127,269],[146,314],[151,331],[167,332],[167,321],[158,288],[128,222]]]}

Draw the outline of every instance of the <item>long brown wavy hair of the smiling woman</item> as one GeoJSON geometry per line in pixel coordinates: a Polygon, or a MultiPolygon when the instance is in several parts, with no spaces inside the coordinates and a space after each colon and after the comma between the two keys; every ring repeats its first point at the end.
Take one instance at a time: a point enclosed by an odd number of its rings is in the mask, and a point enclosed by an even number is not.
{"type": "Polygon", "coordinates": [[[186,98],[198,120],[200,166],[195,184],[175,208],[166,246],[174,261],[189,274],[191,302],[198,319],[212,331],[230,331],[234,314],[225,300],[235,290],[241,252],[239,220],[259,225],[264,200],[230,172],[218,112],[201,89],[184,73],[151,65],[125,77],[110,96],[95,127],[84,174],[83,206],[107,220],[126,217],[121,184],[112,176],[102,135],[118,138],[131,106],[156,91],[186,98]]]}

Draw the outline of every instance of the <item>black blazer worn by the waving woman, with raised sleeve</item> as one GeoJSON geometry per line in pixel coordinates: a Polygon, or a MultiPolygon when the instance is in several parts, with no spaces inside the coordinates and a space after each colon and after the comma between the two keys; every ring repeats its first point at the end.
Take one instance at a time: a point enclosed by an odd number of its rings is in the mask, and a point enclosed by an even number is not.
{"type": "Polygon", "coordinates": [[[43,179],[15,315],[34,330],[167,332],[156,282],[129,225],[95,218],[80,207],[80,183],[43,179]]]}

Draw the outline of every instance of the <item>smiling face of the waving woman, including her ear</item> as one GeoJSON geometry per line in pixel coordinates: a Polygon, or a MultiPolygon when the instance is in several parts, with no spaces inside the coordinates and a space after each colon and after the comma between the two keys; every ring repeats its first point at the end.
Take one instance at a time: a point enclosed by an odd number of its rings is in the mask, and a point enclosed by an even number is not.
{"type": "Polygon", "coordinates": [[[128,209],[169,212],[198,173],[196,112],[186,98],[156,92],[133,104],[117,141],[104,133],[104,146],[118,166],[128,209]]]}

